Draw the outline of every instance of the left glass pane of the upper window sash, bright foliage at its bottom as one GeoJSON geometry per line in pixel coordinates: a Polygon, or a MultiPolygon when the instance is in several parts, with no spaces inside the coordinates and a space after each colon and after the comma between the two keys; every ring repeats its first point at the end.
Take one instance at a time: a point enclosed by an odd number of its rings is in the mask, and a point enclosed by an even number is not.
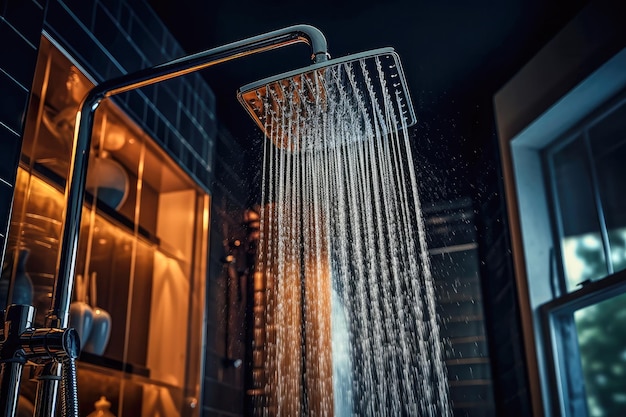
{"type": "Polygon", "coordinates": [[[600,222],[582,136],[552,156],[568,291],[607,275],[600,222]]]}

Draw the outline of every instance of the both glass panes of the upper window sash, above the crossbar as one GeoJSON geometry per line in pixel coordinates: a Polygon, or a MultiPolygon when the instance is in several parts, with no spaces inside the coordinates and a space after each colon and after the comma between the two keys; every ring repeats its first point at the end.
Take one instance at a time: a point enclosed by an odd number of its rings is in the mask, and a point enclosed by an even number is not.
{"type": "Polygon", "coordinates": [[[566,290],[626,268],[626,101],[547,153],[566,290]]]}

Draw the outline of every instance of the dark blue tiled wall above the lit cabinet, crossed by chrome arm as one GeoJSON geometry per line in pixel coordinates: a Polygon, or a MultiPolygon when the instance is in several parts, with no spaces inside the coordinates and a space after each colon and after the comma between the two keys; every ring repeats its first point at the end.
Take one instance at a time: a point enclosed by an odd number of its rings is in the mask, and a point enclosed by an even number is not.
{"type": "MultiPolygon", "coordinates": [[[[96,82],[184,55],[140,0],[49,0],[44,28],[96,82]]],[[[200,74],[124,93],[115,101],[211,191],[215,96],[200,74]]]]}

